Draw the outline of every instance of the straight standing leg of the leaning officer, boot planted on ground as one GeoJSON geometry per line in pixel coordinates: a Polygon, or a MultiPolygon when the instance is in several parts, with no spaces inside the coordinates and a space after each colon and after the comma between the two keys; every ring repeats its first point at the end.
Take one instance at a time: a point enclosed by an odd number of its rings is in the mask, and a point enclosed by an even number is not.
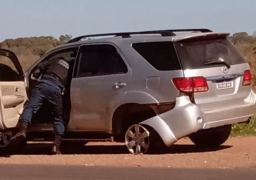
{"type": "Polygon", "coordinates": [[[63,96],[61,94],[60,88],[49,87],[51,88],[51,95],[49,95],[49,102],[53,109],[54,121],[54,142],[53,142],[53,154],[61,154],[60,152],[60,143],[61,138],[65,131],[65,126],[63,122],[63,96]]]}

